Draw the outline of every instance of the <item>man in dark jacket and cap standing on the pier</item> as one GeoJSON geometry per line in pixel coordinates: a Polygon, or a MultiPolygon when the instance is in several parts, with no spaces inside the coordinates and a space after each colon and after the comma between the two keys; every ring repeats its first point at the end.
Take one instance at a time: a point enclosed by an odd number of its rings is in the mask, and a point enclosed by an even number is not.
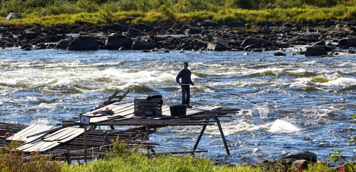
{"type": "Polygon", "coordinates": [[[192,106],[189,105],[189,100],[190,100],[189,84],[191,84],[192,86],[194,86],[194,84],[190,79],[191,72],[188,69],[188,62],[184,62],[183,67],[184,68],[177,75],[176,81],[182,89],[182,104],[186,104],[188,108],[192,108],[192,106]],[[181,79],[181,82],[179,82],[179,79],[181,79]]]}

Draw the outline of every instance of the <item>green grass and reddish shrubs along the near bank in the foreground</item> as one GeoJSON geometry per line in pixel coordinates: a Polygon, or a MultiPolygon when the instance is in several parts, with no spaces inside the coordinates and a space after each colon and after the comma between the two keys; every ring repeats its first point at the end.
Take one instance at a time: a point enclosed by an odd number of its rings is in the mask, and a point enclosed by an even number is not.
{"type": "MultiPolygon", "coordinates": [[[[148,157],[141,153],[144,149],[127,148],[125,142],[118,139],[108,151],[113,157],[94,160],[88,164],[62,164],[50,161],[50,157],[42,157],[39,152],[32,153],[28,163],[23,152],[16,150],[19,142],[11,142],[4,150],[0,150],[0,172],[279,172],[264,167],[215,165],[204,157],[172,156],[158,154],[148,157]]],[[[354,171],[356,163],[347,163],[345,170],[354,171]]],[[[291,167],[289,171],[301,171],[291,167]]],[[[327,164],[317,163],[309,166],[304,172],[331,172],[327,164]]]]}

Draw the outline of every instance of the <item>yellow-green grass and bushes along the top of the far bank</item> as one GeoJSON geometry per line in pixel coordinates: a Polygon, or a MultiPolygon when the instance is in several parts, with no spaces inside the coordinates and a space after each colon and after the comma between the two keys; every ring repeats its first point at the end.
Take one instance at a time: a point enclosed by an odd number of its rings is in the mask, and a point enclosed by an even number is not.
{"type": "Polygon", "coordinates": [[[356,0],[7,0],[0,14],[22,19],[0,23],[44,25],[76,24],[81,21],[108,24],[127,21],[155,23],[211,19],[215,22],[356,18],[356,0]]]}

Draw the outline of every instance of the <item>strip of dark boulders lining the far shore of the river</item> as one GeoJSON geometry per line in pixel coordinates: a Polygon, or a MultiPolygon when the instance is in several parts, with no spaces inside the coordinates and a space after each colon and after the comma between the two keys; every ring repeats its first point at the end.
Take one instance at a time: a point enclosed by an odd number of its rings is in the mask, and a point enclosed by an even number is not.
{"type": "MultiPolygon", "coordinates": [[[[38,23],[2,24],[0,46],[21,47],[24,50],[134,49],[145,52],[169,52],[172,49],[256,52],[299,47],[297,54],[332,56],[342,49],[356,47],[355,27],[356,21],[350,19],[313,23],[306,20],[261,22],[253,26],[241,21],[218,24],[212,20],[197,19],[184,23],[160,21],[153,25],[127,22],[103,26],[80,22],[53,27],[38,23]]],[[[347,52],[355,53],[353,50],[347,52]]],[[[274,55],[285,54],[278,52],[274,55]]]]}

